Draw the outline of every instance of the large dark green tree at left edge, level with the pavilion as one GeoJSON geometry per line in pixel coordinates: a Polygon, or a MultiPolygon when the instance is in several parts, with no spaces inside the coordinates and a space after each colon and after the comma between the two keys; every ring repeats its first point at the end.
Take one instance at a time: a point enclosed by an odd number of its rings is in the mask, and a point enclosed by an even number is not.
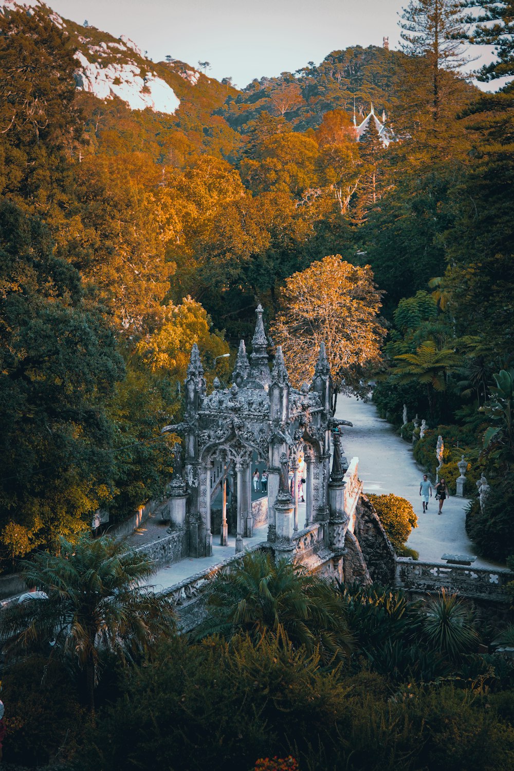
{"type": "Polygon", "coordinates": [[[78,271],[38,218],[5,200],[0,292],[0,540],[15,557],[88,528],[109,497],[106,408],[124,369],[78,271]]]}

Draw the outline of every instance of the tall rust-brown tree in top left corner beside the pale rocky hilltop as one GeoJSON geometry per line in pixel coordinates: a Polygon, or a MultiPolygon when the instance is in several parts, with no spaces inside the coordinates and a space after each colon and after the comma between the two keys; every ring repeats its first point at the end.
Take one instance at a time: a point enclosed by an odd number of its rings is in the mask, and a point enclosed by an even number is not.
{"type": "Polygon", "coordinates": [[[0,15],[0,193],[62,221],[82,131],[68,33],[44,8],[0,15]]]}

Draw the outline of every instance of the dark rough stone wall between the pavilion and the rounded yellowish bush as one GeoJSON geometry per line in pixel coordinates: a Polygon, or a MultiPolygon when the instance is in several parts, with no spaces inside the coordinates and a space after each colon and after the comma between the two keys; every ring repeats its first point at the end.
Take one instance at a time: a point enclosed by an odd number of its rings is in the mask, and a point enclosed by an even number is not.
{"type": "Polygon", "coordinates": [[[363,493],[355,512],[354,535],[364,555],[371,581],[391,586],[395,581],[395,550],[378,514],[363,493]]]}

